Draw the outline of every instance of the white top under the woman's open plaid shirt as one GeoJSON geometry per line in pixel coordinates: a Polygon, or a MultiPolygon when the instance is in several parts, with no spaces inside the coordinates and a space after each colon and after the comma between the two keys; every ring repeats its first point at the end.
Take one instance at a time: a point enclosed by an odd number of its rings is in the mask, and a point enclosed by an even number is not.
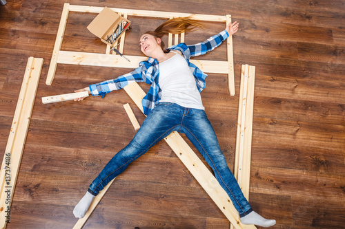
{"type": "Polygon", "coordinates": [[[161,88],[160,102],[175,102],[182,107],[205,109],[186,59],[176,52],[168,60],[159,63],[158,83],[161,88]]]}

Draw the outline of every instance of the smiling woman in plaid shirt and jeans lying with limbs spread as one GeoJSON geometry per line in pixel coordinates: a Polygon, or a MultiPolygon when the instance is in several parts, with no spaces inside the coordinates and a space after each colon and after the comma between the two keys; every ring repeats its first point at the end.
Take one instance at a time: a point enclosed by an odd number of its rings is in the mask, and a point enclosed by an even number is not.
{"type": "Polygon", "coordinates": [[[167,50],[164,48],[164,43],[161,41],[164,34],[186,32],[195,27],[202,25],[199,21],[189,18],[166,21],[154,32],[146,32],[140,38],[141,52],[149,57],[148,61],[142,61],[137,69],[124,76],[77,90],[88,91],[93,96],[103,96],[133,81],[151,85],[148,94],[142,100],[144,113],[147,115],[144,123],[132,141],[112,157],[90,184],[86,195],[73,210],[75,217],[82,218],[99,191],[122,173],[131,162],[146,153],[161,139],[166,138],[172,131],[177,131],[186,134],[213,169],[219,184],[226,190],[239,212],[242,223],[262,227],[275,225],[274,219],[265,219],[253,211],[228,168],[215,131],[208,121],[201,102],[200,91],[205,87],[206,74],[190,63],[190,57],[214,50],[228,36],[237,32],[239,24],[229,23],[224,31],[203,43],[196,45],[180,43],[167,50]]]}

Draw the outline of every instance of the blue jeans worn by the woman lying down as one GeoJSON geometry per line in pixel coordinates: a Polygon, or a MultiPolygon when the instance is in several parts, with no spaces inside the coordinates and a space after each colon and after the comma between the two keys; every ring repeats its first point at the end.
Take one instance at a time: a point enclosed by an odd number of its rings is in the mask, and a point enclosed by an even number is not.
{"type": "Polygon", "coordinates": [[[90,184],[88,192],[97,195],[104,186],[122,173],[127,166],[146,153],[172,131],[186,134],[215,173],[219,184],[233,201],[240,217],[252,210],[221,152],[215,131],[205,111],[181,107],[172,102],[160,102],[150,111],[132,141],[106,164],[90,184]]]}

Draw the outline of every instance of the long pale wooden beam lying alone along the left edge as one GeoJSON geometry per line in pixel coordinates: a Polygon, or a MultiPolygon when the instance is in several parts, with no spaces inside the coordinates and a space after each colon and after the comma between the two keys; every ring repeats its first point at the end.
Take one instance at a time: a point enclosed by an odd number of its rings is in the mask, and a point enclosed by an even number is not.
{"type": "Polygon", "coordinates": [[[26,135],[28,134],[42,65],[43,58],[33,58],[32,56],[28,58],[26,72],[23,77],[10,135],[8,136],[1,165],[0,228],[6,228],[6,224],[8,223],[6,216],[10,216],[14,188],[17,183],[21,155],[23,154],[26,135]]]}

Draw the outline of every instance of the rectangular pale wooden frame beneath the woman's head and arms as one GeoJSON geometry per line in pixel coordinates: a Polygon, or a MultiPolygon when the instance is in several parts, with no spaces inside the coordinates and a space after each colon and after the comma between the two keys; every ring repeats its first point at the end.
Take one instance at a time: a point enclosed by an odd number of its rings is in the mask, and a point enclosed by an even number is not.
{"type": "MultiPolygon", "coordinates": [[[[155,18],[166,18],[171,19],[174,17],[191,17],[193,19],[198,19],[201,21],[220,21],[225,23],[231,23],[231,16],[217,16],[217,15],[207,15],[207,14],[186,14],[177,12],[160,12],[160,11],[150,11],[150,10],[128,10],[121,8],[110,8],[118,14],[123,14],[125,18],[128,16],[142,16],[142,17],[155,17],[155,18]]],[[[63,11],[61,15],[61,21],[59,24],[59,29],[57,32],[57,39],[55,41],[54,50],[52,53],[52,59],[50,61],[50,67],[48,70],[47,85],[52,85],[52,81],[55,77],[55,71],[57,69],[58,63],[70,64],[70,65],[88,65],[88,66],[103,66],[103,67],[128,67],[137,68],[140,61],[145,61],[147,58],[142,56],[127,56],[130,60],[127,62],[124,58],[119,57],[119,55],[110,55],[110,47],[106,48],[106,54],[93,54],[87,52],[68,52],[61,51],[61,45],[63,41],[63,35],[66,29],[66,24],[68,20],[69,12],[92,12],[99,13],[103,10],[101,7],[92,6],[75,6],[65,3],[63,6],[63,11]]],[[[175,44],[178,43],[179,34],[175,34],[175,44]]],[[[119,45],[119,51],[124,50],[124,39],[125,36],[121,36],[121,41],[119,45]]],[[[181,42],[184,42],[184,34],[181,34],[181,42]]],[[[233,40],[232,36],[227,39],[227,60],[228,61],[197,61],[191,60],[192,63],[197,65],[203,72],[207,73],[218,73],[218,74],[228,74],[228,83],[230,95],[235,95],[235,78],[233,69],[233,40]]],[[[172,34],[168,36],[168,46],[172,45],[172,34]]]]}

